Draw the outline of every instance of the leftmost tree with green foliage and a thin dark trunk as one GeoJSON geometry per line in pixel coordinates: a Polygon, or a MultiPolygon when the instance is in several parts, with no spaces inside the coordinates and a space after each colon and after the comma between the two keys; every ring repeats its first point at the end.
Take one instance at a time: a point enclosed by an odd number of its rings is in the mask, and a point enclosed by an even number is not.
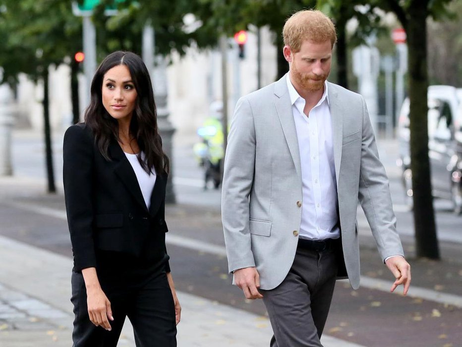
{"type": "Polygon", "coordinates": [[[70,2],[59,0],[3,0],[0,34],[4,51],[0,66],[3,80],[14,83],[26,73],[44,83],[44,131],[48,192],[55,193],[55,176],[49,120],[48,77],[50,66],[58,66],[81,46],[81,24],[70,9],[70,2]]]}

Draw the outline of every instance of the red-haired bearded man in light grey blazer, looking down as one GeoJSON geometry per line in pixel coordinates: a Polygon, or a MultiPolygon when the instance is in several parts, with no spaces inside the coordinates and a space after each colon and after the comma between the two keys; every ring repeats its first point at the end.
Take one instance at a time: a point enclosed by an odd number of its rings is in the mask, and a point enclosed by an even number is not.
{"type": "Polygon", "coordinates": [[[336,278],[359,287],[356,207],[382,260],[410,284],[388,179],[364,99],[326,81],[337,41],[322,12],[284,26],[289,73],[239,99],[228,148],[222,219],[233,282],[263,298],[271,347],[322,346],[336,278]]]}

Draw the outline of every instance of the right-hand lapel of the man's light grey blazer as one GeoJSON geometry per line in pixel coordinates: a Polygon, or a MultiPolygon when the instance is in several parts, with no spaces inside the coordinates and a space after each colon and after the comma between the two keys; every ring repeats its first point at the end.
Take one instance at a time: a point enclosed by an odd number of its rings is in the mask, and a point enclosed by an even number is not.
{"type": "MultiPolygon", "coordinates": [[[[329,82],[328,82],[329,83],[329,82]]],[[[329,83],[329,109],[332,117],[332,136],[334,142],[334,164],[337,187],[339,186],[340,163],[342,160],[343,117],[338,92],[335,85],[329,83]]]]}

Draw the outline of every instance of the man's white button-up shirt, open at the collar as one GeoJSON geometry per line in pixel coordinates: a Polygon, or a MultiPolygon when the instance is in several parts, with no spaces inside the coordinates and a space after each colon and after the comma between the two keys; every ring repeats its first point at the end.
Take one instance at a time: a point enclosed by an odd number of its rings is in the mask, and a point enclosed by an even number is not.
{"type": "Polygon", "coordinates": [[[303,205],[299,235],[310,240],[340,237],[332,121],[327,82],[319,102],[303,113],[305,99],[287,74],[293,119],[300,151],[303,205]]]}

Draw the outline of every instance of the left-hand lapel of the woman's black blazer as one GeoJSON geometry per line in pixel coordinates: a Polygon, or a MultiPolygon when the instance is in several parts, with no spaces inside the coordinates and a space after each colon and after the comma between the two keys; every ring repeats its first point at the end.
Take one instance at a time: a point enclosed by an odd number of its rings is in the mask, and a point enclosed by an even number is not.
{"type": "Polygon", "coordinates": [[[148,208],[144,202],[143,194],[141,193],[135,171],[133,171],[133,168],[123,153],[122,148],[120,148],[116,141],[111,141],[111,144],[109,145],[109,152],[111,154],[111,158],[116,161],[114,172],[120,178],[130,194],[133,195],[138,204],[147,211],[148,208]]]}

